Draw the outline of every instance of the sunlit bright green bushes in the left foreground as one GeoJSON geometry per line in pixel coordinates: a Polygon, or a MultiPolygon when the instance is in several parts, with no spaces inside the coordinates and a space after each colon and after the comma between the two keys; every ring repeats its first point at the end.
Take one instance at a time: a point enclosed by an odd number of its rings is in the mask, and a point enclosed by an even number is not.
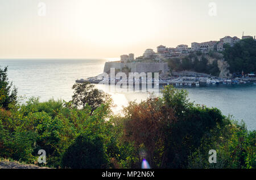
{"type": "Polygon", "coordinates": [[[110,125],[105,119],[110,115],[109,105],[101,105],[90,115],[89,106],[80,110],[65,104],[63,101],[39,102],[38,98],[31,98],[26,104],[13,105],[10,111],[1,109],[0,155],[37,163],[37,153],[44,149],[47,166],[57,168],[63,153],[77,136],[87,131],[108,131],[110,125]]]}

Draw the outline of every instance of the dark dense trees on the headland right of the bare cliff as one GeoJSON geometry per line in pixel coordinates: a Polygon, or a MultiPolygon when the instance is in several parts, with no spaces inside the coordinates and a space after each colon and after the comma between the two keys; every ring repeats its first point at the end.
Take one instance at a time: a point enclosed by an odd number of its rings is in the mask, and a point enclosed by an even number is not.
{"type": "Polygon", "coordinates": [[[256,72],[256,41],[253,38],[241,40],[233,47],[225,45],[224,48],[224,58],[231,73],[256,72]]]}

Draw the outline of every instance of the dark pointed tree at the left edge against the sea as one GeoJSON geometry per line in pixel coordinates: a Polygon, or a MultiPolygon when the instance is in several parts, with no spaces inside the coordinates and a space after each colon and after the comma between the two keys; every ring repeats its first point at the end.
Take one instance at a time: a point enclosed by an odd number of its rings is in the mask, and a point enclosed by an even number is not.
{"type": "Polygon", "coordinates": [[[16,104],[18,89],[7,78],[7,67],[0,68],[0,107],[9,109],[9,104],[16,104]]]}

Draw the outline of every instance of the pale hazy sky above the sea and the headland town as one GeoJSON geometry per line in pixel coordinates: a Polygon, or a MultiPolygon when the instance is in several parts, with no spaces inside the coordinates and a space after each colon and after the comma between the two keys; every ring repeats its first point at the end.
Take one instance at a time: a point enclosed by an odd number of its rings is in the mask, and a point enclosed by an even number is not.
{"type": "Polygon", "coordinates": [[[138,57],[243,31],[256,35],[255,0],[0,0],[0,58],[138,57]]]}

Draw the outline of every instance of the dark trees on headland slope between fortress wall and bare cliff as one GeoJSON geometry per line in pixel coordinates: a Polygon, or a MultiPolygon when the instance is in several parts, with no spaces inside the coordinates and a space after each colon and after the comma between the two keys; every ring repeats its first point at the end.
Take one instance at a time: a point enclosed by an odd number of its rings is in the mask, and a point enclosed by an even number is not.
{"type": "Polygon", "coordinates": [[[181,59],[170,58],[168,59],[168,65],[172,71],[189,70],[218,76],[220,74],[217,63],[218,59],[220,59],[218,53],[210,52],[207,55],[203,55],[202,53],[197,52],[190,53],[181,59]],[[214,58],[214,61],[209,63],[207,57],[214,58]]]}

